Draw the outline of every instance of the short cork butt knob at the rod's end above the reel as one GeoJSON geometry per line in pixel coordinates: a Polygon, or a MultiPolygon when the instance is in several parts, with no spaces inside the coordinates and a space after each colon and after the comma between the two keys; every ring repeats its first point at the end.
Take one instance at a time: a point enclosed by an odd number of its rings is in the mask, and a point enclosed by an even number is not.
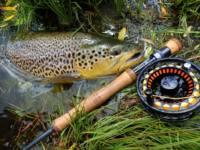
{"type": "Polygon", "coordinates": [[[167,44],[165,44],[165,47],[168,47],[171,51],[171,54],[178,52],[182,49],[181,42],[176,38],[171,38],[167,44]]]}

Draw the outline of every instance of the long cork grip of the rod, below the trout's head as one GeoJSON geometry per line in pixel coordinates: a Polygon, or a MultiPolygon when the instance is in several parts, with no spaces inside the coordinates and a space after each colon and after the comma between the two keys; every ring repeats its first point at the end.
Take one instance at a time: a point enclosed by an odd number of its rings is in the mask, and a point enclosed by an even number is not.
{"type": "Polygon", "coordinates": [[[107,86],[98,90],[97,92],[90,95],[88,98],[83,100],[76,109],[71,109],[68,113],[55,119],[53,121],[53,128],[60,132],[70,125],[72,119],[77,119],[78,114],[83,115],[83,113],[88,113],[95,108],[101,106],[108,98],[117,93],[122,88],[135,82],[137,75],[132,69],[127,69],[118,78],[112,81],[107,86]]]}

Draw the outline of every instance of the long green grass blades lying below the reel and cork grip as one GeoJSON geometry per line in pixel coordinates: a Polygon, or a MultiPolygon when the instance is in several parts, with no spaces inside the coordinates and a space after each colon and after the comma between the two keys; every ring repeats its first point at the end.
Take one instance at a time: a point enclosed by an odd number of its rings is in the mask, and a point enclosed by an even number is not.
{"type": "Polygon", "coordinates": [[[74,143],[84,149],[196,149],[199,146],[200,128],[195,123],[198,114],[185,122],[163,122],[149,116],[138,104],[118,110],[113,116],[98,118],[103,108],[74,122],[67,136],[64,136],[66,131],[61,133],[66,148],[74,143]]]}

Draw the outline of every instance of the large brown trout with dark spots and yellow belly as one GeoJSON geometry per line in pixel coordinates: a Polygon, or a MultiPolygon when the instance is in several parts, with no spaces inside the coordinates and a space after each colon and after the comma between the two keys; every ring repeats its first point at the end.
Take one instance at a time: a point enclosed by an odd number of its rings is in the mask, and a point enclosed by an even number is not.
{"type": "Polygon", "coordinates": [[[97,34],[29,32],[9,41],[5,56],[18,69],[46,78],[43,83],[70,83],[115,74],[143,61],[142,48],[97,34]]]}

